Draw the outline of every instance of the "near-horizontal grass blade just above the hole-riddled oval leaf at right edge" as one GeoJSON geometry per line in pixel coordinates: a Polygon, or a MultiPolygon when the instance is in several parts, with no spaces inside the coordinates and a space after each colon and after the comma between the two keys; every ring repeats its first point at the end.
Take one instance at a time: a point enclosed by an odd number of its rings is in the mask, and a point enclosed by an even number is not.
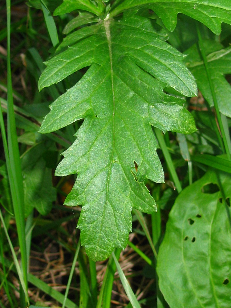
{"type": "Polygon", "coordinates": [[[193,155],[191,159],[192,161],[196,161],[197,163],[205,164],[209,167],[213,167],[218,170],[231,173],[231,162],[224,158],[209,154],[202,154],[202,155],[193,155]]]}

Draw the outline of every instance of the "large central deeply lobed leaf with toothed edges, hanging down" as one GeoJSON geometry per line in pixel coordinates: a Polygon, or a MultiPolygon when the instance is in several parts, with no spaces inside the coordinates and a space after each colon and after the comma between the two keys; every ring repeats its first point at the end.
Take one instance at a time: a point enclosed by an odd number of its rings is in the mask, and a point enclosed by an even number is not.
{"type": "Polygon", "coordinates": [[[152,126],[163,132],[196,129],[184,100],[163,92],[166,85],[188,96],[197,91],[182,55],[166,38],[148,18],[106,18],[67,36],[39,80],[42,89],[90,66],[51,105],[40,132],[85,119],[55,174],[78,174],[65,204],[83,205],[78,228],[93,260],[126,246],[132,207],[156,210],[143,183],[164,181],[152,126]]]}

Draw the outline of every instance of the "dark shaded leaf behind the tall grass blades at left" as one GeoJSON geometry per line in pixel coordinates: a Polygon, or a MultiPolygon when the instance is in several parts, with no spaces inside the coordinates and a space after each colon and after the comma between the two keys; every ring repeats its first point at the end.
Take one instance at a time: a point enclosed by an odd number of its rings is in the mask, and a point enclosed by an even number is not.
{"type": "Polygon", "coordinates": [[[47,156],[47,150],[42,142],[31,147],[21,158],[26,217],[33,208],[41,215],[47,215],[51,211],[52,202],[56,200],[51,169],[46,167],[43,158],[47,156]]]}

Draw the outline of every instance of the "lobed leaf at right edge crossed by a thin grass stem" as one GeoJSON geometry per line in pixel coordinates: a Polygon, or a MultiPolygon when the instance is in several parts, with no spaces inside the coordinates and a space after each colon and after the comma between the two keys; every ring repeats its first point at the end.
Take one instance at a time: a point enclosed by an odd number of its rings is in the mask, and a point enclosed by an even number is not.
{"type": "MultiPolygon", "coordinates": [[[[231,47],[223,48],[220,43],[214,40],[205,40],[204,48],[219,110],[224,115],[231,117],[231,87],[224,76],[231,73],[231,47]]],[[[196,78],[199,90],[212,107],[212,93],[197,44],[194,44],[184,53],[188,55],[184,59],[184,63],[196,78]]]]}

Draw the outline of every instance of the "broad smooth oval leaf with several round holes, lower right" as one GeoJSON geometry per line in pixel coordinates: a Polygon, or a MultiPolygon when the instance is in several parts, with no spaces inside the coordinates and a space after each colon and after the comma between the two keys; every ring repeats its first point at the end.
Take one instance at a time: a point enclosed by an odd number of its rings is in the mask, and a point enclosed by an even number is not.
{"type": "Polygon", "coordinates": [[[171,308],[230,307],[230,181],[230,174],[209,169],[169,214],[157,273],[171,308]]]}

